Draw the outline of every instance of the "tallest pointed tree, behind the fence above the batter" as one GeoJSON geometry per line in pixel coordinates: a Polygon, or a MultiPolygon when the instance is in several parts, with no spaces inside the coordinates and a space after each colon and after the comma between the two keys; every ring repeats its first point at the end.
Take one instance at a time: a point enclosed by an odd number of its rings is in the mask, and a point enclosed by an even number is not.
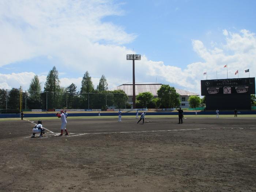
{"type": "Polygon", "coordinates": [[[60,80],[59,72],[54,66],[47,75],[44,91],[48,91],[48,108],[60,108],[60,80]]]}

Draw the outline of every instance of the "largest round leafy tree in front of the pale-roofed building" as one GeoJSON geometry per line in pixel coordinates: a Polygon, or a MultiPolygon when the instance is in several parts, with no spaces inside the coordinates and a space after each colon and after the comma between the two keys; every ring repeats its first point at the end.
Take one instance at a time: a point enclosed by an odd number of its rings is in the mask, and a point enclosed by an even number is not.
{"type": "Polygon", "coordinates": [[[161,99],[161,106],[163,108],[173,108],[180,106],[180,95],[176,92],[174,87],[163,84],[157,91],[158,98],[161,99]]]}

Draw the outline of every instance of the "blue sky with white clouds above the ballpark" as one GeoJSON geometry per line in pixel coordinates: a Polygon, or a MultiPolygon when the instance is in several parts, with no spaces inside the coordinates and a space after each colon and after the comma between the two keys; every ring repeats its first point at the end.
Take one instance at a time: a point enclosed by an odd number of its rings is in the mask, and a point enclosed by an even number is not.
{"type": "Polygon", "coordinates": [[[1,0],[0,89],[27,90],[38,75],[43,91],[53,66],[63,87],[80,91],[88,71],[95,88],[105,75],[112,89],[132,82],[126,54],[133,53],[142,56],[138,83],[201,94],[206,78],[255,77],[255,7],[254,0],[1,0]]]}

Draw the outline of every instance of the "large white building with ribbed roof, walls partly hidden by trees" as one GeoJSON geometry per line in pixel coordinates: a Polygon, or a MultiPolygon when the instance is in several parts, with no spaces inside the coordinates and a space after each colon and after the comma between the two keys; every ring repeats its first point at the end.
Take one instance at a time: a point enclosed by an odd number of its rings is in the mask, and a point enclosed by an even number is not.
{"type": "MultiPolygon", "coordinates": [[[[139,93],[150,92],[153,96],[157,97],[157,91],[161,87],[161,83],[135,83],[135,96],[139,93]]],[[[180,94],[181,108],[189,108],[188,99],[191,95],[197,95],[197,93],[193,93],[190,91],[184,91],[182,89],[176,89],[176,92],[180,94]]],[[[125,83],[118,87],[113,88],[112,90],[123,90],[128,96],[129,104],[133,104],[132,102],[132,83],[125,83]]]]}

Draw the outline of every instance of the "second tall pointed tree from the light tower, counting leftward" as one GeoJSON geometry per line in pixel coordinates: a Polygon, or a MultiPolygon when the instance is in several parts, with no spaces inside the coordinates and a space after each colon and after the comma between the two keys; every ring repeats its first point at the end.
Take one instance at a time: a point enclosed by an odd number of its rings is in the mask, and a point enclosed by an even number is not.
{"type": "Polygon", "coordinates": [[[80,91],[82,107],[88,108],[89,93],[94,92],[94,85],[91,81],[91,76],[88,71],[85,72],[82,80],[82,86],[80,91]]]}

